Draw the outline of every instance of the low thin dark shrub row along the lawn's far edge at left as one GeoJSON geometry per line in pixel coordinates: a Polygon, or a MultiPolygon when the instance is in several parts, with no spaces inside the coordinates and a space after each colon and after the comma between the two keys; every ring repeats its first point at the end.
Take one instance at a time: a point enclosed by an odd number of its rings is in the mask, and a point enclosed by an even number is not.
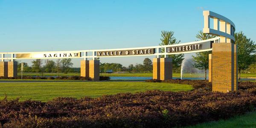
{"type": "MultiPolygon", "coordinates": [[[[1,76],[0,79],[21,79],[21,76],[18,77],[3,77],[1,76]]],[[[32,76],[23,76],[22,79],[58,79],[58,80],[92,80],[88,77],[82,76],[59,76],[59,77],[32,77],[32,76]]],[[[109,76],[100,76],[100,81],[110,80],[109,76]]]]}

